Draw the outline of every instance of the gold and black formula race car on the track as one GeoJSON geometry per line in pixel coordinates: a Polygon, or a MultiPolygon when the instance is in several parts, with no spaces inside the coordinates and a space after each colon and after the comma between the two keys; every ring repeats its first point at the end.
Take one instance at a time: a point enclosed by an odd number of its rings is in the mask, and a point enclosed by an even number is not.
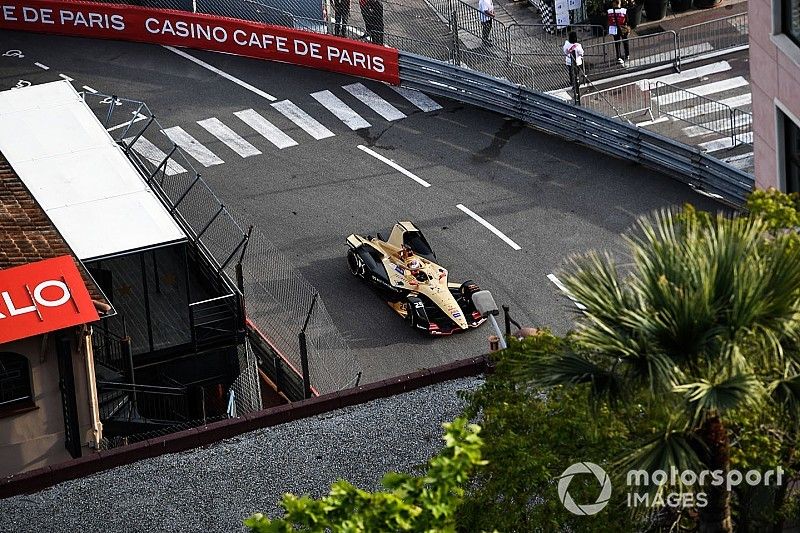
{"type": "Polygon", "coordinates": [[[436,263],[428,241],[411,222],[398,222],[389,240],[352,234],[347,237],[350,272],[366,281],[412,328],[450,335],[480,326],[472,303],[480,289],[473,281],[450,283],[436,263]]]}

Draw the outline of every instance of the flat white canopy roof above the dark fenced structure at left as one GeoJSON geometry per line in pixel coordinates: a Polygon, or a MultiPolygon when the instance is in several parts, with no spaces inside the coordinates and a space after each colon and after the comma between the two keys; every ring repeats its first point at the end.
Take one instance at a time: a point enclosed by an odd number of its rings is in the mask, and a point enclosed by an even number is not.
{"type": "Polygon", "coordinates": [[[0,92],[0,152],[82,260],[186,239],[67,81],[0,92]]]}

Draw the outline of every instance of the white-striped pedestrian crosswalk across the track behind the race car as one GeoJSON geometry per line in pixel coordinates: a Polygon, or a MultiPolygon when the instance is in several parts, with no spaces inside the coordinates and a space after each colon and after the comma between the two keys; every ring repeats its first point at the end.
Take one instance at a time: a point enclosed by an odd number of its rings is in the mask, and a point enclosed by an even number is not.
{"type": "MultiPolygon", "coordinates": [[[[442,109],[436,101],[419,91],[405,87],[392,89],[403,101],[422,112],[442,109]]],[[[315,107],[314,112],[308,112],[292,100],[273,101],[258,110],[242,109],[227,117],[198,120],[199,129],[190,125],[171,126],[161,132],[148,129],[143,135],[132,135],[124,141],[129,145],[133,142],[132,149],[154,166],[164,164],[174,144],[203,167],[213,167],[230,161],[231,157],[248,158],[262,155],[272,147],[283,150],[298,146],[309,137],[315,141],[334,137],[336,128],[329,127],[331,116],[352,131],[372,127],[370,120],[374,122],[374,119],[368,120],[362,114],[373,113],[389,122],[407,117],[390,101],[392,98],[384,98],[360,82],[343,85],[341,91],[323,90],[309,96],[327,113],[318,113],[316,106],[311,106],[315,107]],[[204,144],[201,138],[213,140],[204,144]],[[259,139],[266,140],[269,145],[262,142],[263,146],[260,146],[259,139]]],[[[187,172],[186,166],[189,165],[181,165],[175,158],[170,158],[164,171],[168,176],[182,174],[187,172]]]]}

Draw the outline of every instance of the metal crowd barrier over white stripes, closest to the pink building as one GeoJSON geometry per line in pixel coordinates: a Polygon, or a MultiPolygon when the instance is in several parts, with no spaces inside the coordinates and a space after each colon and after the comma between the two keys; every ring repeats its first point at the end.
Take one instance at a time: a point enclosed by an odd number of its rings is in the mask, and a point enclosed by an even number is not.
{"type": "Polygon", "coordinates": [[[649,85],[657,114],[692,124],[693,127],[684,132],[688,136],[710,132],[729,136],[731,146],[752,144],[752,137],[748,135],[753,122],[750,113],[664,82],[649,85]]]}

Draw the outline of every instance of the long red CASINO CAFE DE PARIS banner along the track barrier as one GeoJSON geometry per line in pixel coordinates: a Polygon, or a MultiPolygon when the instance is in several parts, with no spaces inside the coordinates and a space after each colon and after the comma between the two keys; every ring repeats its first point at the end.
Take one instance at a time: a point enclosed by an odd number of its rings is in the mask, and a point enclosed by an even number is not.
{"type": "Polygon", "coordinates": [[[89,2],[3,0],[0,28],[213,50],[400,83],[394,48],[212,15],[89,2]]]}

